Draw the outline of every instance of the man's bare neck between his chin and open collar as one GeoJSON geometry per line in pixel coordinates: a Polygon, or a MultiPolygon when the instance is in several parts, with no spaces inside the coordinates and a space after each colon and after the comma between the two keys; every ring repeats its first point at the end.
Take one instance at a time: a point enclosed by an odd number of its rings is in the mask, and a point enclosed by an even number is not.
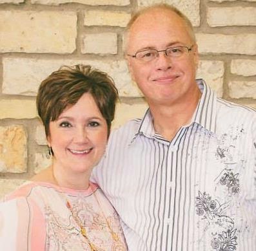
{"type": "Polygon", "coordinates": [[[182,126],[191,122],[201,95],[201,91],[197,88],[188,95],[188,98],[182,98],[180,102],[167,105],[149,104],[155,131],[171,141],[182,126]]]}

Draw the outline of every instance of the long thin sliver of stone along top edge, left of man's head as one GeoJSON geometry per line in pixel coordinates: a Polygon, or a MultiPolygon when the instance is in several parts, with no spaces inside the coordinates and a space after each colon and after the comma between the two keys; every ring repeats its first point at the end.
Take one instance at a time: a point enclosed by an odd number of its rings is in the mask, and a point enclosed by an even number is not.
{"type": "Polygon", "coordinates": [[[31,0],[31,3],[41,5],[61,5],[63,3],[81,3],[83,5],[116,5],[126,6],[130,5],[130,0],[31,0]]]}

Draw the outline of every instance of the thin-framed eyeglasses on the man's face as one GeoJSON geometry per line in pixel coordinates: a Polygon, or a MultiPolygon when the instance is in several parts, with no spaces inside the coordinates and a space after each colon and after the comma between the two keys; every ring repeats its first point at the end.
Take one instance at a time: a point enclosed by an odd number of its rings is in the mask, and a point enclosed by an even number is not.
{"type": "Polygon", "coordinates": [[[182,57],[182,55],[186,55],[186,53],[190,52],[193,48],[193,45],[191,47],[188,46],[175,46],[175,47],[170,47],[166,48],[166,50],[143,50],[143,51],[137,51],[135,55],[129,55],[129,57],[135,57],[135,59],[139,59],[144,62],[150,62],[157,57],[159,57],[159,52],[164,51],[166,57],[172,57],[172,58],[177,58],[177,57],[182,57]]]}

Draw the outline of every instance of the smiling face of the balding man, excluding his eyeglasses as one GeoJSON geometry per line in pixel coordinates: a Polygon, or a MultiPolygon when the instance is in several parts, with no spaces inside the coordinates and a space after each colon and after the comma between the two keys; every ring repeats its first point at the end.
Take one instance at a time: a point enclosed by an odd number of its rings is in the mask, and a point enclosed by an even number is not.
{"type": "Polygon", "coordinates": [[[165,50],[173,46],[190,48],[192,45],[192,51],[186,51],[178,58],[166,57],[164,52],[150,62],[127,57],[132,78],[149,104],[172,104],[191,96],[197,88],[197,45],[193,43],[181,17],[170,10],[150,10],[132,24],[126,51],[130,55],[147,49],[165,50]]]}

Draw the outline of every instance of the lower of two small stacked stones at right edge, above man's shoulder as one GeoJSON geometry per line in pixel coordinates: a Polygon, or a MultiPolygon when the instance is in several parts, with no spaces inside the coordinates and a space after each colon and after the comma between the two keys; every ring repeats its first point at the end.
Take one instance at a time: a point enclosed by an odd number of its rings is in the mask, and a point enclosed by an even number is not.
{"type": "Polygon", "coordinates": [[[256,98],[256,81],[230,81],[228,83],[231,98],[256,98]]]}

